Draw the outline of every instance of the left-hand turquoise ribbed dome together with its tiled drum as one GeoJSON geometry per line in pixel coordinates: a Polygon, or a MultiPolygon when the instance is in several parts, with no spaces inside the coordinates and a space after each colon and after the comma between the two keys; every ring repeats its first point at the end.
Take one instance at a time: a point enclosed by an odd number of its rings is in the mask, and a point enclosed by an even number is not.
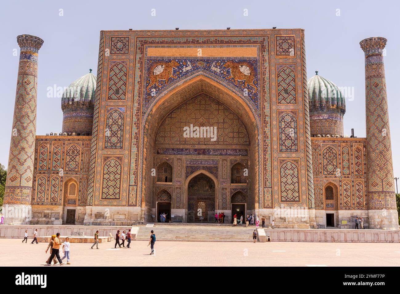
{"type": "Polygon", "coordinates": [[[63,133],[92,134],[95,90],[96,76],[92,70],[64,90],[61,99],[63,133]]]}

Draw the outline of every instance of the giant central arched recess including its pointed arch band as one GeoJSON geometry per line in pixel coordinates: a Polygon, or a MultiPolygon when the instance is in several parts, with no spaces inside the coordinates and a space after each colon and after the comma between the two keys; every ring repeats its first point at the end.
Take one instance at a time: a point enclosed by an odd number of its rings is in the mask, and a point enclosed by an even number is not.
{"type": "Polygon", "coordinates": [[[139,187],[144,215],[154,215],[155,195],[166,189],[172,194],[172,221],[187,222],[188,179],[202,173],[215,184],[214,212],[225,211],[229,221],[230,173],[238,162],[246,167],[243,172],[248,180],[241,188],[251,197],[248,211],[254,211],[261,191],[259,125],[244,99],[207,74],[179,84],[158,99],[142,124],[143,178],[139,187]],[[191,124],[216,127],[217,138],[184,138],[183,128],[191,124]],[[152,174],[161,162],[172,166],[172,182],[157,182],[152,174]]]}

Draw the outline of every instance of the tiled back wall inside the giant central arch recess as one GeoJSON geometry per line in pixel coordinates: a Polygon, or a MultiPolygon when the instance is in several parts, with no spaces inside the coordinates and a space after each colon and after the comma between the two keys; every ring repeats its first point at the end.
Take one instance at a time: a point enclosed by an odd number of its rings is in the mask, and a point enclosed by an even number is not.
{"type": "Polygon", "coordinates": [[[168,101],[182,102],[161,112],[163,104],[156,120],[150,120],[145,158],[152,168],[146,169],[145,189],[152,215],[159,215],[161,191],[171,195],[171,222],[214,222],[216,212],[224,212],[225,222],[230,222],[231,196],[238,191],[245,199],[236,202],[242,204],[240,211],[254,210],[250,195],[258,186],[252,184],[256,137],[249,137],[246,126],[256,125],[248,116],[236,114],[240,108],[225,104],[232,97],[218,100],[204,93],[209,90],[210,86],[193,89],[193,96],[185,95],[186,99],[175,94],[168,101]]]}

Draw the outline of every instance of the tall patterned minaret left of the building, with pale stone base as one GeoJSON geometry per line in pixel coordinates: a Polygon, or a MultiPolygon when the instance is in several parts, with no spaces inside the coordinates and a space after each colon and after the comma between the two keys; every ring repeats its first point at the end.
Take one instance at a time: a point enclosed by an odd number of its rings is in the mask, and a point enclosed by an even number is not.
{"type": "Polygon", "coordinates": [[[43,40],[35,36],[20,35],[17,42],[21,52],[4,192],[6,224],[28,224],[32,217],[38,51],[43,40]]]}

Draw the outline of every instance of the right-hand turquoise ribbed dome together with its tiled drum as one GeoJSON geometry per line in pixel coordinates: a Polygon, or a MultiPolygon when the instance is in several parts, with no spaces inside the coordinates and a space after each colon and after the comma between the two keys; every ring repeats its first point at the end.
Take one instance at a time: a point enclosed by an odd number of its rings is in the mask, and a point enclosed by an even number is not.
{"type": "Polygon", "coordinates": [[[307,81],[307,89],[311,136],[342,137],[346,103],[338,86],[318,75],[316,71],[316,75],[307,81]]]}

